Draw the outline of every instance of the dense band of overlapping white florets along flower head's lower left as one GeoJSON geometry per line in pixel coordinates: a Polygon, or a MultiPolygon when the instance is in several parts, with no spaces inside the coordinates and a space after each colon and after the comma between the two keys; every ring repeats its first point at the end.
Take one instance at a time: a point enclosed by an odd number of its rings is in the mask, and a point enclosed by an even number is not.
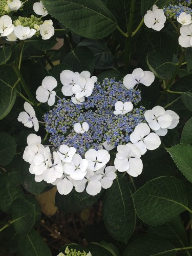
{"type": "Polygon", "coordinates": [[[102,187],[111,187],[116,179],[116,168],[106,167],[110,160],[106,150],[91,149],[82,159],[74,147],[64,144],[51,155],[49,146],[42,145],[36,134],[28,136],[27,144],[23,159],[30,163],[29,172],[35,175],[36,182],[44,180],[56,185],[61,195],[69,194],[75,187],[77,192],[86,188],[89,195],[95,196],[102,187]]]}

